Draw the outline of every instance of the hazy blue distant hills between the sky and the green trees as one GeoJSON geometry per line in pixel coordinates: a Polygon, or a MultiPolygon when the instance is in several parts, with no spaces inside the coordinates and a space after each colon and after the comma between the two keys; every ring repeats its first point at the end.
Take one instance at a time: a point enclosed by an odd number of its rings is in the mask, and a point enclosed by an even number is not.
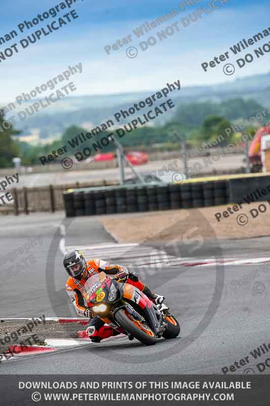
{"type": "MultiPolygon", "coordinates": [[[[267,107],[269,104],[270,72],[218,85],[185,87],[184,83],[181,83],[181,86],[182,88],[179,92],[174,91],[171,93],[177,108],[181,105],[204,103],[205,101],[220,103],[227,99],[235,98],[253,99],[258,105],[267,107]]],[[[49,106],[48,109],[27,118],[24,122],[20,124],[18,122],[16,129],[22,130],[20,135],[29,134],[32,128],[37,128],[40,132],[40,137],[43,139],[59,137],[59,134],[62,134],[70,125],[82,126],[83,123],[89,122],[92,122],[94,126],[99,125],[109,118],[113,118],[115,112],[120,109],[127,109],[152,93],[155,93],[155,90],[115,95],[65,97],[56,104],[49,106]]],[[[30,103],[24,103],[24,105],[17,109],[17,112],[25,109],[28,105],[30,103]]],[[[141,112],[143,113],[148,110],[149,108],[147,107],[147,109],[141,112]]],[[[14,112],[13,110],[11,113],[8,113],[7,118],[9,115],[14,115],[14,112]]],[[[255,114],[256,111],[253,113],[255,114]]],[[[138,112],[139,114],[140,112],[138,112]]],[[[174,114],[175,109],[172,109],[166,115],[157,117],[153,123],[155,126],[164,125],[173,118],[174,114]]],[[[243,117],[242,112],[236,112],[236,115],[237,117],[243,117]]],[[[232,117],[227,118],[232,119],[232,117]]]]}

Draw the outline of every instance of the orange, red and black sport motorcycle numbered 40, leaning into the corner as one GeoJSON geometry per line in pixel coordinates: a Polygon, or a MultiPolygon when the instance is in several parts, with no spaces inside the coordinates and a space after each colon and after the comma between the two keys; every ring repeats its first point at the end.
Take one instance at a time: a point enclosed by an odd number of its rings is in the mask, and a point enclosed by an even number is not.
{"type": "Polygon", "coordinates": [[[164,303],[156,306],[135,286],[117,282],[104,272],[87,280],[83,294],[89,310],[112,327],[121,327],[129,340],[135,337],[149,346],[180,333],[178,321],[164,303]]]}

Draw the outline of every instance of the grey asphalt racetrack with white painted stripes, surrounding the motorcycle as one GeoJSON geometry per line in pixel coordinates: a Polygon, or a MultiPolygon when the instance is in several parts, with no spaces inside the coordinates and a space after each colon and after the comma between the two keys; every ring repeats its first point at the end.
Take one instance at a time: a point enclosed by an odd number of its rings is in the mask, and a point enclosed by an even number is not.
{"type": "MultiPolygon", "coordinates": [[[[267,237],[220,241],[219,257],[210,240],[199,255],[177,256],[162,242],[118,244],[98,217],[76,218],[60,228],[63,219],[63,213],[2,217],[2,257],[28,242],[27,252],[16,251],[13,260],[31,256],[34,261],[27,269],[17,267],[3,274],[1,318],[76,317],[65,293],[62,265],[63,249],[76,248],[87,259],[135,263],[143,282],[166,296],[179,320],[180,335],[152,347],[125,336],[100,344],[71,343],[54,352],[2,362],[2,374],[268,373],[267,237]]],[[[4,269],[9,266],[5,263],[4,269]]],[[[52,338],[57,337],[47,337],[52,338]]]]}

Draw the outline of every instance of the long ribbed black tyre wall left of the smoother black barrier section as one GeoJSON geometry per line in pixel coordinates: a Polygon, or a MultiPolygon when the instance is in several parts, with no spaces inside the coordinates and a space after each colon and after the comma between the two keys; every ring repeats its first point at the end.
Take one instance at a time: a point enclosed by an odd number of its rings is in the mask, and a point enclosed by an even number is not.
{"type": "Polygon", "coordinates": [[[218,206],[229,201],[228,181],[140,184],[71,189],[66,217],[218,206]]]}

